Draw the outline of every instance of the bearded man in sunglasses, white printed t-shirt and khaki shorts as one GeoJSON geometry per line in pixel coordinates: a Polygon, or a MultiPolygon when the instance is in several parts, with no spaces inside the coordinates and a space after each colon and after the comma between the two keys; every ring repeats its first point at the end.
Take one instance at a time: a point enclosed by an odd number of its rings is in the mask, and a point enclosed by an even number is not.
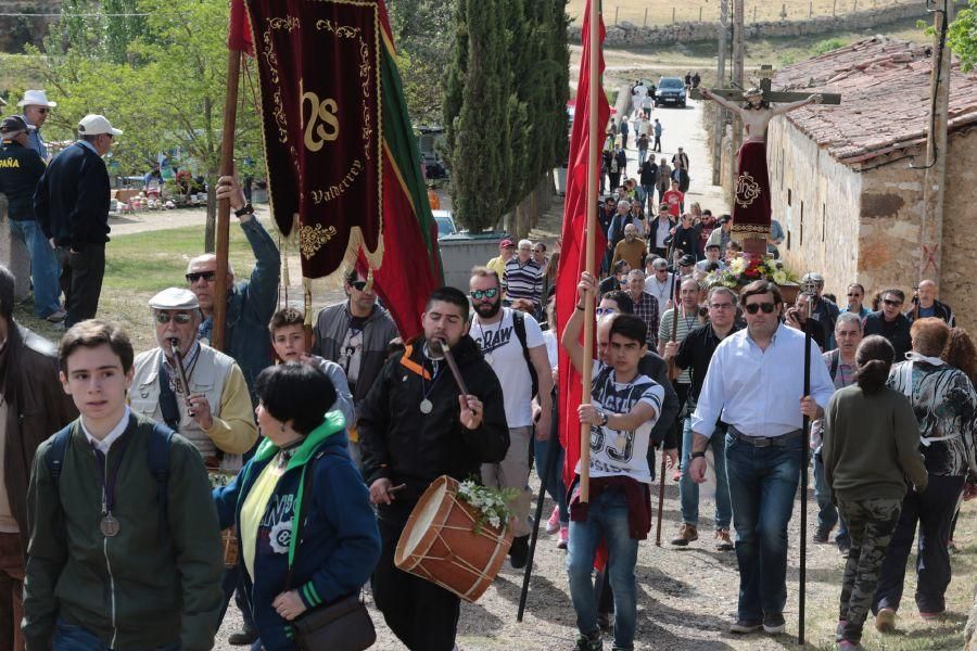
{"type": "Polygon", "coordinates": [[[520,492],[511,503],[516,515],[512,525],[516,538],[509,550],[509,562],[518,569],[525,565],[529,554],[529,511],[532,503],[529,489],[530,443],[534,430],[537,438],[549,437],[553,370],[540,324],[529,315],[504,308],[500,294],[502,283],[495,271],[485,267],[472,269],[469,296],[475,314],[469,334],[498,376],[509,424],[509,451],[500,463],[482,465],[482,482],[486,486],[520,492]],[[534,380],[536,392],[533,391],[534,380]],[[535,427],[534,393],[538,396],[541,408],[535,427]]]}

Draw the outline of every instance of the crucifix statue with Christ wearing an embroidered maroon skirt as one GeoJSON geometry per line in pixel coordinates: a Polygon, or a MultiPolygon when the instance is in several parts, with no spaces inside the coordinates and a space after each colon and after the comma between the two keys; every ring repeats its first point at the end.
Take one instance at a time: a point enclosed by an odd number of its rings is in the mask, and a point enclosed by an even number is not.
{"type": "Polygon", "coordinates": [[[760,86],[693,90],[695,100],[713,100],[739,116],[747,138],[737,153],[736,188],[733,202],[733,232],[740,233],[744,253],[762,256],[770,234],[770,177],[766,171],[766,128],[770,120],[808,104],[840,104],[837,93],[807,94],[771,90],[773,68],[760,68],[760,86]],[[772,106],[772,102],[778,102],[772,106]],[[781,103],[783,102],[783,103],[781,103]]]}

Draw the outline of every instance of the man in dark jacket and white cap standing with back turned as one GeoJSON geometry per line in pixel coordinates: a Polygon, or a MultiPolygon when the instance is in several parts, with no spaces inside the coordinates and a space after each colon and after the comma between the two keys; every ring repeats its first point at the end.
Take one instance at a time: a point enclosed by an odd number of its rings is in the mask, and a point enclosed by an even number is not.
{"type": "Polygon", "coordinates": [[[34,195],[37,222],[58,250],[61,289],[71,328],[99,308],[109,241],[109,170],[102,156],[120,129],[102,115],[78,124],[80,140],[51,161],[34,195]]]}

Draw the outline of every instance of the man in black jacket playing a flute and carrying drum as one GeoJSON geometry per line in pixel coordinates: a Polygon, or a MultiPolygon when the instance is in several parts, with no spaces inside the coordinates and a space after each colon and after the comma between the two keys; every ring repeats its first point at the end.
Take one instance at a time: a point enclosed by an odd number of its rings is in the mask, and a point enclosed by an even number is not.
{"type": "Polygon", "coordinates": [[[460,612],[453,592],[394,566],[411,510],[439,476],[478,478],[482,463],[498,463],[509,448],[502,386],[468,336],[468,309],[460,291],[435,290],[423,314],[424,336],[386,362],[358,407],[363,475],[383,541],[373,598],[408,649],[451,651],[460,612]],[[471,394],[459,395],[446,360],[431,350],[433,339],[451,347],[471,394]]]}

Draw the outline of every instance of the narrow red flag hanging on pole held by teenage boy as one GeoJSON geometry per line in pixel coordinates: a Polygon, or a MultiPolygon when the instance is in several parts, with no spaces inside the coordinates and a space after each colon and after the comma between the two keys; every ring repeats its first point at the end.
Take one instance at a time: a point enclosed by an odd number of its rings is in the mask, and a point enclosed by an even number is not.
{"type": "MultiPolygon", "coordinates": [[[[584,23],[581,30],[583,37],[583,52],[581,55],[580,81],[576,85],[576,110],[573,116],[573,130],[570,136],[569,174],[567,175],[567,196],[563,204],[563,232],[560,247],[560,265],[557,272],[557,332],[563,332],[567,321],[573,315],[576,305],[576,283],[580,275],[586,269],[586,227],[587,218],[597,209],[596,205],[587,205],[587,156],[589,150],[589,120],[592,117],[598,125],[598,143],[604,140],[607,120],[610,119],[610,105],[604,89],[597,92],[597,105],[591,105],[591,84],[600,85],[604,74],[604,52],[601,46],[606,29],[604,21],[598,26],[600,38],[597,43],[592,43],[591,34],[591,1],[587,0],[584,10],[584,23]],[[591,78],[589,56],[591,48],[598,49],[599,73],[596,79],[591,78]],[[592,116],[592,114],[595,114],[592,116]]],[[[596,0],[594,0],[596,1],[596,0]]],[[[598,144],[598,151],[600,145],[598,144]]],[[[599,158],[594,174],[600,174],[599,158]]],[[[595,233],[595,268],[600,268],[600,258],[607,248],[607,238],[597,229],[595,233]]],[[[596,350],[596,347],[595,347],[596,350]]],[[[567,352],[560,347],[559,357],[559,397],[560,397],[560,442],[567,450],[563,478],[567,485],[573,480],[573,470],[580,459],[580,419],[576,408],[581,404],[583,395],[581,387],[581,374],[570,362],[567,352]]]]}

